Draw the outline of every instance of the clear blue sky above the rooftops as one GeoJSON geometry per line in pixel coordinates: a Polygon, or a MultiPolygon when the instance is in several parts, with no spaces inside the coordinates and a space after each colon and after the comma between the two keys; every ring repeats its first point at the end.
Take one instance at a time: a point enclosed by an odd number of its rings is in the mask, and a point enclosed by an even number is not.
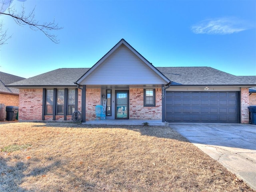
{"type": "MultiPolygon", "coordinates": [[[[22,0],[20,0],[22,1],[22,0]]],[[[17,9],[23,2],[13,0],[17,9]]],[[[12,38],[0,71],[29,78],[89,68],[124,38],[158,66],[209,66],[256,76],[255,0],[26,0],[39,22],[55,19],[59,44],[0,15],[12,38]]]]}

